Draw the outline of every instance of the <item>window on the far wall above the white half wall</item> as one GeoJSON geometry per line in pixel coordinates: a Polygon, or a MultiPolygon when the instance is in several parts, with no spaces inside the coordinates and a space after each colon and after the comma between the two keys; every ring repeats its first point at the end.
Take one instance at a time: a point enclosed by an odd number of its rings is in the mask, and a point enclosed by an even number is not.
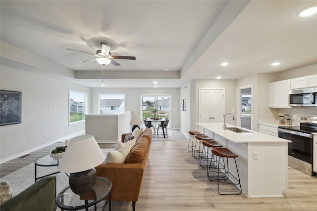
{"type": "Polygon", "coordinates": [[[124,93],[99,93],[100,114],[121,114],[125,112],[124,93]]]}

